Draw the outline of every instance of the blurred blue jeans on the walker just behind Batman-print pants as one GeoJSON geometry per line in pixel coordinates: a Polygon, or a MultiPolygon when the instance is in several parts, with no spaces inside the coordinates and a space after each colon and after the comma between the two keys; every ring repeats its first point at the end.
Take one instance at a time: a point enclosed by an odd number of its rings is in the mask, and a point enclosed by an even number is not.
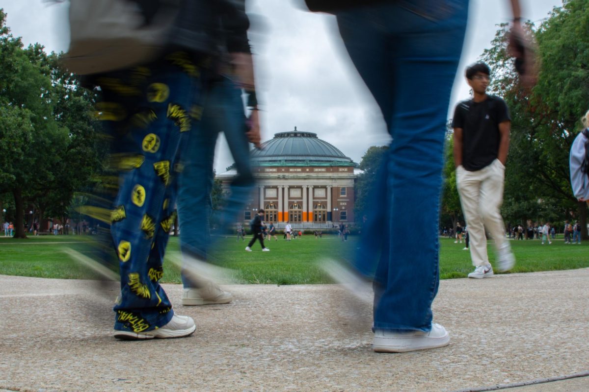
{"type": "MultiPolygon", "coordinates": [[[[183,253],[200,260],[207,259],[207,250],[211,246],[213,159],[220,132],[225,133],[237,169],[230,193],[224,198],[223,209],[216,216],[221,229],[243,220],[238,215],[254,186],[245,119],[239,86],[227,78],[211,83],[203,102],[201,121],[191,130],[186,145],[177,200],[180,247],[183,253]]],[[[184,287],[192,286],[184,275],[182,281],[184,287]]]]}

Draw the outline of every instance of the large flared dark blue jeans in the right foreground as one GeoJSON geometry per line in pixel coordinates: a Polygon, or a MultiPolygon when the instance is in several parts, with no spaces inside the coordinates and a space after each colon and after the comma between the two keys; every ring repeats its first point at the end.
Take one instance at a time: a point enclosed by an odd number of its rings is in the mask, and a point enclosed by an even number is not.
{"type": "Polygon", "coordinates": [[[374,327],[429,331],[438,292],[446,114],[468,0],[412,0],[337,15],[343,42],[392,142],[372,190],[354,266],[373,276],[374,327]],[[417,230],[406,236],[407,227],[417,230]],[[377,235],[373,235],[378,233],[377,235]]]}

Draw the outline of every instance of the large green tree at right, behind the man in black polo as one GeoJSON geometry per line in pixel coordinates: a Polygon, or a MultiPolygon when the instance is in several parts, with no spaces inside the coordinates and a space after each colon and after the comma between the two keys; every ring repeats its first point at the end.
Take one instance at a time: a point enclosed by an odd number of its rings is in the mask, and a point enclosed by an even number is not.
{"type": "Polygon", "coordinates": [[[492,69],[490,91],[502,96],[512,115],[505,172],[506,220],[568,219],[576,213],[586,227],[587,207],[571,192],[568,152],[589,108],[588,0],[565,0],[530,35],[538,45],[541,72],[531,91],[518,85],[507,55],[507,25],[500,25],[482,61],[492,69]]]}

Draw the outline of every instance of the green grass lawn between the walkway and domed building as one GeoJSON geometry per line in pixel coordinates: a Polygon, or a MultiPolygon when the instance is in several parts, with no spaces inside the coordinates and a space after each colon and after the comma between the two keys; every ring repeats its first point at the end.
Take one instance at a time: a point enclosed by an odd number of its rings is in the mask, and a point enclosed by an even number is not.
{"type": "MultiPolygon", "coordinates": [[[[87,251],[92,237],[38,236],[27,240],[0,237],[0,274],[50,277],[62,279],[94,279],[96,276],[75,263],[63,252],[65,247],[87,251]]],[[[306,236],[300,240],[267,242],[270,252],[261,252],[254,244],[254,252],[245,252],[246,242],[236,242],[234,237],[221,238],[219,250],[213,254],[216,263],[236,270],[241,283],[264,284],[316,284],[329,283],[316,266],[322,257],[345,258],[353,254],[358,239],[350,237],[342,243],[335,236],[323,236],[316,240],[306,236]]],[[[464,243],[440,240],[440,276],[442,279],[466,277],[472,272],[469,252],[462,250],[464,243]]],[[[589,267],[587,250],[589,243],[564,244],[564,240],[552,240],[541,245],[540,240],[511,241],[517,258],[512,272],[565,270],[589,267]]],[[[178,251],[178,239],[170,238],[168,251],[178,251]]],[[[492,245],[489,256],[494,262],[492,245]]],[[[180,283],[180,271],[171,263],[164,263],[163,283],[180,283]]]]}

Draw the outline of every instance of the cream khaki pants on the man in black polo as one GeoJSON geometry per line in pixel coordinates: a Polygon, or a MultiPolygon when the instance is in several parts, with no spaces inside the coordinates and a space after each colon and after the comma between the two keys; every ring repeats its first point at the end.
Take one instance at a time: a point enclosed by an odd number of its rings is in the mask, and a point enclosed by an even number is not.
{"type": "Polygon", "coordinates": [[[469,250],[474,266],[489,262],[485,229],[495,240],[498,251],[509,246],[505,240],[503,218],[499,213],[503,202],[504,178],[505,166],[498,159],[476,172],[469,172],[462,165],[456,167],[456,185],[468,225],[469,250]]]}

